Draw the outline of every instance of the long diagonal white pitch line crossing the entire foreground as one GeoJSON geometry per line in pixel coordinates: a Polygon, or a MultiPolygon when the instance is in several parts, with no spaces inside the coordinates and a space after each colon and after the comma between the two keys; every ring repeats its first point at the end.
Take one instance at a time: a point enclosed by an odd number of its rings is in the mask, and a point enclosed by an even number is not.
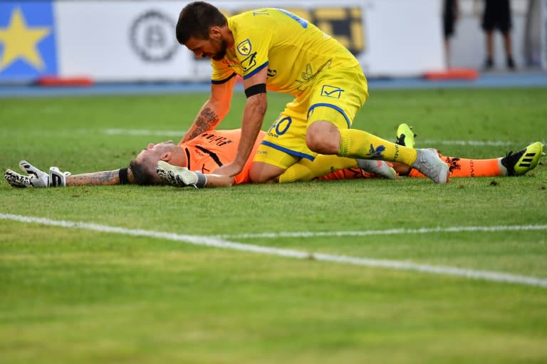
{"type": "Polygon", "coordinates": [[[147,236],[157,239],[167,239],[172,241],[182,241],[184,243],[211,246],[222,249],[232,249],[238,251],[247,251],[259,254],[269,254],[296,259],[313,259],[318,261],[329,261],[342,264],[354,264],[358,266],[373,266],[402,271],[419,271],[430,274],[442,274],[447,276],[461,276],[470,279],[482,279],[484,281],[494,281],[501,283],[522,284],[526,286],[539,286],[547,288],[547,279],[541,279],[531,276],[521,276],[516,274],[507,274],[496,271],[478,271],[474,269],[462,269],[452,266],[432,266],[429,264],[416,264],[406,261],[392,261],[386,259],[359,258],[354,256],[343,256],[334,254],[311,253],[307,251],[298,251],[293,249],[278,249],[269,246],[259,246],[254,244],[241,244],[234,241],[227,241],[214,236],[199,236],[175,234],[168,232],[155,232],[153,230],[126,229],[123,227],[109,227],[107,225],[89,224],[86,222],[69,222],[63,220],[51,220],[41,217],[26,217],[15,214],[1,214],[0,219],[25,222],[31,224],[43,224],[56,227],[66,227],[71,229],[85,229],[93,232],[106,232],[112,234],[123,234],[131,236],[147,236]]]}

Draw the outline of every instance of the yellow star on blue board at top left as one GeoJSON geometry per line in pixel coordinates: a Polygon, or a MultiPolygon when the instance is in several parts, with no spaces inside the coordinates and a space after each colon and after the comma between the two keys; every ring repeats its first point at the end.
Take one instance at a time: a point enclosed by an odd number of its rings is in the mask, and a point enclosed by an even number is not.
{"type": "Polygon", "coordinates": [[[43,69],[43,60],[36,45],[49,33],[51,29],[46,26],[28,28],[21,10],[14,9],[8,27],[0,28],[0,44],[4,46],[0,71],[19,58],[38,70],[43,69]]]}

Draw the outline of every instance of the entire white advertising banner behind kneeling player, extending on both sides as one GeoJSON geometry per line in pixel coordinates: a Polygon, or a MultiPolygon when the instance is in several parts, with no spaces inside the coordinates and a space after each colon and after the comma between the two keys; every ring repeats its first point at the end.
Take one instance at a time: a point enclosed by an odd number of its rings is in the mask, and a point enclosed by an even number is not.
{"type": "MultiPolygon", "coordinates": [[[[55,1],[58,76],[96,81],[209,80],[175,38],[188,1],[55,1]]],[[[275,6],[335,36],[368,76],[420,76],[444,69],[441,1],[212,1],[226,15],[275,6]]]]}

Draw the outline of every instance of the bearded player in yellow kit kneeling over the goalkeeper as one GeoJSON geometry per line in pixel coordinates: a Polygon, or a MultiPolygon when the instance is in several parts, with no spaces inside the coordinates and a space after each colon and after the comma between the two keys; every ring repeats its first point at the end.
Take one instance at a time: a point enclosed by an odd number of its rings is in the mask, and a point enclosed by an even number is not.
{"type": "Polygon", "coordinates": [[[320,175],[313,171],[333,161],[342,169],[355,159],[402,162],[434,182],[448,182],[447,165],[434,151],[395,145],[353,128],[368,98],[360,64],[335,38],[305,19],[275,8],[226,19],[216,7],[196,1],[179,14],[177,40],[197,57],[212,59],[211,96],[184,140],[214,129],[228,113],[234,76],[244,80],[247,100],[237,155],[216,173],[241,172],[264,122],[266,90],[271,90],[295,98],[254,155],[251,182],[301,180],[309,171],[320,175]],[[337,155],[345,158],[333,160],[337,155]]]}

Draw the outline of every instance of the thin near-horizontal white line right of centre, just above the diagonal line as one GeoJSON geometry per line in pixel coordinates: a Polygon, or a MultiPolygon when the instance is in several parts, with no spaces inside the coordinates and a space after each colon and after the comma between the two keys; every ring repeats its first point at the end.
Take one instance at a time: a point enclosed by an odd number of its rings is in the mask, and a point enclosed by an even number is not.
{"type": "Polygon", "coordinates": [[[432,234],[439,232],[507,232],[523,230],[547,230],[547,225],[501,225],[494,227],[422,227],[420,229],[360,230],[347,232],[263,232],[256,234],[216,235],[219,239],[255,239],[255,238],[312,238],[322,236],[369,236],[400,234],[432,234]]]}

